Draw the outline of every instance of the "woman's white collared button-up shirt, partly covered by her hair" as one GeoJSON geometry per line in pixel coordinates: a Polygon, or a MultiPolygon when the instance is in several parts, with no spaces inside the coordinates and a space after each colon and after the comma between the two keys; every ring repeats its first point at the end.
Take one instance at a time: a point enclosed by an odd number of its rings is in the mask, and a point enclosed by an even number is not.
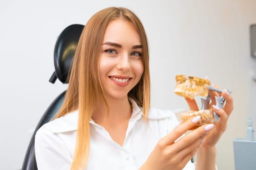
{"type": "MultiPolygon", "coordinates": [[[[151,108],[149,121],[142,119],[141,108],[131,100],[129,120],[123,146],[93,120],[90,121],[90,156],[86,170],[138,170],[153,151],[158,140],[178,124],[169,110],[151,108]]],[[[76,145],[78,111],[44,124],[35,138],[39,170],[70,170],[76,145]]],[[[195,170],[189,161],[183,170],[195,170]]]]}

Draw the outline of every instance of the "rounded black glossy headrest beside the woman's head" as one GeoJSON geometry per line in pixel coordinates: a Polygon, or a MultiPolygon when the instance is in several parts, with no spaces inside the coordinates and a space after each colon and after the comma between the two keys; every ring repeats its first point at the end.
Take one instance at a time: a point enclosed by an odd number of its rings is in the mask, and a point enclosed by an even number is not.
{"type": "Polygon", "coordinates": [[[55,71],[50,78],[55,83],[58,78],[62,83],[68,83],[68,73],[72,67],[73,57],[84,25],[73,24],[65,28],[59,35],[54,49],[55,71]]]}

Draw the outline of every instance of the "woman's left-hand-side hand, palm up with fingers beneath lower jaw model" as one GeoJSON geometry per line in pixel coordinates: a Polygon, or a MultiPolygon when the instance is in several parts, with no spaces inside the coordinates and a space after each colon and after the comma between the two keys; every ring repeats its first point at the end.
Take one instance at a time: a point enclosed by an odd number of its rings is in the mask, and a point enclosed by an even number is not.
{"type": "Polygon", "coordinates": [[[195,126],[199,119],[200,116],[190,119],[162,137],[139,170],[182,170],[214,127],[213,124],[202,125],[177,140],[195,126]]]}

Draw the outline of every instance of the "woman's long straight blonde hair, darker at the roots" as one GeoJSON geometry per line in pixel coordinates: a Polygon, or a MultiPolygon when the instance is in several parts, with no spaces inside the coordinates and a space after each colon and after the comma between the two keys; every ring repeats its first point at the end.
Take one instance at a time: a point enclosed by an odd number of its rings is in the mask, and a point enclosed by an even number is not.
{"type": "Polygon", "coordinates": [[[122,18],[130,21],[140,35],[144,72],[138,84],[128,93],[142,107],[147,119],[150,105],[149,49],[145,30],[139,18],[126,8],[105,8],[85,25],[79,39],[65,99],[55,119],[79,110],[76,149],[71,170],[84,169],[89,158],[90,119],[97,101],[104,101],[109,110],[98,75],[98,58],[108,24],[122,18]]]}

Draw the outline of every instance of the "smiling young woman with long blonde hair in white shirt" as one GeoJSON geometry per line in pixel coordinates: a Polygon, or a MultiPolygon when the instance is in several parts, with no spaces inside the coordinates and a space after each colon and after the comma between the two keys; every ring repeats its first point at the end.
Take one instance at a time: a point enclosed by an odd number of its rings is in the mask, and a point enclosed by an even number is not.
{"type": "MultiPolygon", "coordinates": [[[[144,28],[128,9],[103,9],[81,34],[59,113],[36,134],[38,169],[215,170],[215,145],[233,110],[231,95],[221,95],[224,109],[213,105],[218,122],[180,138],[200,117],[179,125],[172,112],[149,108],[144,28]],[[190,161],[195,153],[196,165],[190,161]]],[[[198,109],[195,100],[186,100],[198,109]]]]}

